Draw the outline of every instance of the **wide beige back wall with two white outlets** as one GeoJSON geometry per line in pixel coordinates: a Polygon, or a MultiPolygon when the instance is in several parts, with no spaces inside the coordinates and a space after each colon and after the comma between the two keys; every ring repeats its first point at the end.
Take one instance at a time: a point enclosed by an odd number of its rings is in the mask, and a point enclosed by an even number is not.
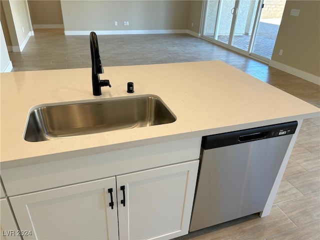
{"type": "Polygon", "coordinates": [[[65,31],[187,29],[189,5],[188,0],[61,1],[65,31]]]}

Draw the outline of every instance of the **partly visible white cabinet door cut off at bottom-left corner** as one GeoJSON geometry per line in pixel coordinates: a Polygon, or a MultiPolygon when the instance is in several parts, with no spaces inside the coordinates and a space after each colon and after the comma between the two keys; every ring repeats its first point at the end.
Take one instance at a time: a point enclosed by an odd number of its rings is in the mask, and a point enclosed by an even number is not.
{"type": "Polygon", "coordinates": [[[6,198],[0,200],[0,223],[1,240],[21,239],[6,198]]]}

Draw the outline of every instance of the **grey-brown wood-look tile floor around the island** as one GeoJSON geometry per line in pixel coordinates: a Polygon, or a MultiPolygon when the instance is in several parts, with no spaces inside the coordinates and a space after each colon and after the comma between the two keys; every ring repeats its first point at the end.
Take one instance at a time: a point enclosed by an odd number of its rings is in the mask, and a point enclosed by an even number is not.
{"type": "MultiPolygon", "coordinates": [[[[98,42],[103,66],[218,59],[320,106],[320,86],[188,34],[98,35],[98,42]]],[[[91,67],[89,37],[65,36],[62,29],[35,30],[23,52],[9,56],[13,71],[91,67]]],[[[303,121],[269,216],[253,214],[177,239],[320,239],[319,133],[320,117],[303,121]]]]}

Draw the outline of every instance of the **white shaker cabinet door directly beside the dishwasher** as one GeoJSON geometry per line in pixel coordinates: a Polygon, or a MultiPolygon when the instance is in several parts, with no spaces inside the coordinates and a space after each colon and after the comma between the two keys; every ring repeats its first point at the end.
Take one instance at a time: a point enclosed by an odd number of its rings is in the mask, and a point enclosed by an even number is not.
{"type": "Polygon", "coordinates": [[[197,169],[194,160],[116,176],[119,238],[187,234],[197,169]]]}

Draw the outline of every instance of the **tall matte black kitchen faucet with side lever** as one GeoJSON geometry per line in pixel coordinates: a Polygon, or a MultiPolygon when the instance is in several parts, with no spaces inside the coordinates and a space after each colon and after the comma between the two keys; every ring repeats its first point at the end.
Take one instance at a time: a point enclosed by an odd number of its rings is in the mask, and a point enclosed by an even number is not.
{"type": "Polygon", "coordinates": [[[103,67],[100,60],[98,39],[94,31],[90,32],[90,52],[92,62],[92,91],[93,95],[101,95],[101,86],[109,86],[109,80],[101,80],[99,73],[103,73],[103,67]]]}

